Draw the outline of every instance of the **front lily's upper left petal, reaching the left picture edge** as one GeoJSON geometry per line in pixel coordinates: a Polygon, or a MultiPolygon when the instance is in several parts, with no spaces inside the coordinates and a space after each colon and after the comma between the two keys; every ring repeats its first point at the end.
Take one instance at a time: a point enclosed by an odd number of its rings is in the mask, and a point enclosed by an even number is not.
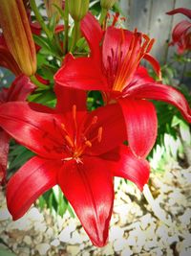
{"type": "Polygon", "coordinates": [[[20,144],[43,157],[62,157],[61,123],[57,115],[34,111],[27,103],[0,105],[0,126],[20,144]]]}

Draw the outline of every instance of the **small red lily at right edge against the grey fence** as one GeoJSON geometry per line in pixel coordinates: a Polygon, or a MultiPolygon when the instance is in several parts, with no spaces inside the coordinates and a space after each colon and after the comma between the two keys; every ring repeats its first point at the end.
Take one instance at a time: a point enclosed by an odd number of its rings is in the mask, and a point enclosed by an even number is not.
{"type": "MultiPolygon", "coordinates": [[[[191,19],[191,10],[186,8],[178,8],[166,12],[168,15],[177,13],[184,14],[191,19]]],[[[181,20],[175,26],[172,32],[172,42],[169,45],[177,45],[179,54],[183,54],[186,50],[191,50],[191,22],[189,20],[181,20]]]]}

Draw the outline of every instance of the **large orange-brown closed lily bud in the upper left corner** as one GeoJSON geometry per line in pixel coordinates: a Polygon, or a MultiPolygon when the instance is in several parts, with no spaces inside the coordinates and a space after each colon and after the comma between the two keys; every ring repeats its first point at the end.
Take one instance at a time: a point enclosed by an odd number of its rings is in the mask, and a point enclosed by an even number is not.
{"type": "Polygon", "coordinates": [[[21,0],[1,0],[0,26],[12,57],[22,72],[36,71],[36,53],[28,16],[21,0]]]}

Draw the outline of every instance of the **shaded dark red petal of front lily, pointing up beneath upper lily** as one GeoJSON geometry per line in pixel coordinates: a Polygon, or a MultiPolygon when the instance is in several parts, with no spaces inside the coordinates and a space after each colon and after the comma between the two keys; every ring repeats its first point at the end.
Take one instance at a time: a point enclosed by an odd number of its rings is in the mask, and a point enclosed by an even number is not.
{"type": "Polygon", "coordinates": [[[73,105],[76,109],[86,110],[86,92],[74,88],[64,87],[58,84],[54,85],[54,92],[56,95],[57,103],[56,110],[60,113],[71,111],[73,105]]]}

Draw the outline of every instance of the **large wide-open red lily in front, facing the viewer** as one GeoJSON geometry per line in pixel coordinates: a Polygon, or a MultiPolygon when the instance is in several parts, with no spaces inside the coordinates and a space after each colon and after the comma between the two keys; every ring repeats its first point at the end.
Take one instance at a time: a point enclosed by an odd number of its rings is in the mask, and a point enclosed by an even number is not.
{"type": "Polygon", "coordinates": [[[36,198],[58,184],[92,242],[102,246],[113,209],[113,176],[129,178],[142,190],[149,177],[148,162],[128,147],[118,146],[125,130],[117,105],[88,113],[79,98],[75,105],[73,100],[63,106],[63,88],[56,85],[55,92],[59,95],[56,110],[49,113],[27,103],[0,106],[2,128],[37,154],[11,176],[8,208],[16,220],[36,198]]]}

